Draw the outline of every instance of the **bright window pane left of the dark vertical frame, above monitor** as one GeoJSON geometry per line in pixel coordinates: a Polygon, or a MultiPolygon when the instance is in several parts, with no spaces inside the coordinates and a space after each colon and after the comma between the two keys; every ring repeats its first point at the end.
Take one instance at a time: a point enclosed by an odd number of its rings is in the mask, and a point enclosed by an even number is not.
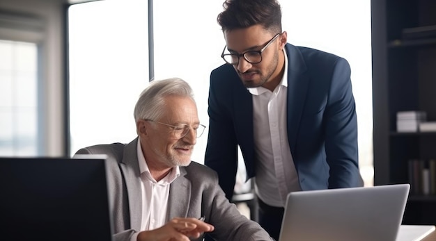
{"type": "Polygon", "coordinates": [[[137,137],[134,104],[148,85],[147,8],[113,0],[68,9],[71,155],[137,137]]]}

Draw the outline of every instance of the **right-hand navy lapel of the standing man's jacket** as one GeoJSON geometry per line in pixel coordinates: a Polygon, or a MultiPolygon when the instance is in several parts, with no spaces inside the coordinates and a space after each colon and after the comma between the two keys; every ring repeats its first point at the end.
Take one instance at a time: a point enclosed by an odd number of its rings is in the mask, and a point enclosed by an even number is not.
{"type": "Polygon", "coordinates": [[[309,75],[306,74],[306,63],[297,47],[286,44],[286,54],[288,55],[288,141],[291,153],[295,153],[299,122],[309,88],[309,75]]]}

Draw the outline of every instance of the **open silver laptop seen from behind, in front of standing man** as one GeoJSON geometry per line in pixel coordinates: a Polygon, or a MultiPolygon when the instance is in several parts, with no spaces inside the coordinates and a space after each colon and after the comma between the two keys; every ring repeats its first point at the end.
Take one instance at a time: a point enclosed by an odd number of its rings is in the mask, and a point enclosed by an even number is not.
{"type": "Polygon", "coordinates": [[[291,192],[279,241],[395,241],[409,184],[291,192]]]}

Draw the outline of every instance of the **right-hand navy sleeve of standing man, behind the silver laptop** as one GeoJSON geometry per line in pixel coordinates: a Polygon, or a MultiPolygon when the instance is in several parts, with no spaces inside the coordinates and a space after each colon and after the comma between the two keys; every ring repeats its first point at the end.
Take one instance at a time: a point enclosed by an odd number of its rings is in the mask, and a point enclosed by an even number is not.
{"type": "Polygon", "coordinates": [[[329,188],[363,185],[359,174],[357,114],[352,94],[350,65],[338,58],[334,65],[325,112],[325,151],[329,164],[329,188]]]}

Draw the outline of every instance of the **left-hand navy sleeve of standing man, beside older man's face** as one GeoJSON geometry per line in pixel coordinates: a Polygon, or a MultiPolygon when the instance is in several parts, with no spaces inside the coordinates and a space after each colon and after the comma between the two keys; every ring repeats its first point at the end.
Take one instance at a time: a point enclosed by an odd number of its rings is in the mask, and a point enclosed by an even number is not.
{"type": "Polygon", "coordinates": [[[233,120],[230,109],[230,86],[224,83],[217,70],[210,75],[210,89],[208,99],[209,134],[205,151],[205,165],[211,167],[219,176],[219,185],[231,200],[235,187],[238,169],[238,144],[236,142],[233,120]],[[226,99],[227,98],[227,99],[226,99]]]}

